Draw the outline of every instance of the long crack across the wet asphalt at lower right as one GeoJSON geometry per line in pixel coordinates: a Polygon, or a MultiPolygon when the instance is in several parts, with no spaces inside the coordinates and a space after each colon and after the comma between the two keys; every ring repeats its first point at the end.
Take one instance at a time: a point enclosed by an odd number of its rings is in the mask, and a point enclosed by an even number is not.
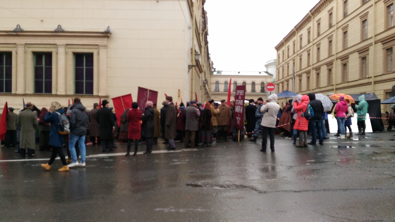
{"type": "Polygon", "coordinates": [[[190,187],[212,187],[218,189],[248,189],[258,192],[260,194],[272,194],[272,193],[303,193],[303,192],[331,192],[331,191],[357,191],[357,190],[395,190],[389,188],[343,188],[343,189],[317,189],[317,190],[276,190],[276,191],[266,191],[266,190],[259,190],[253,186],[248,186],[244,184],[211,184],[208,182],[199,182],[199,183],[187,183],[186,186],[190,187]]]}

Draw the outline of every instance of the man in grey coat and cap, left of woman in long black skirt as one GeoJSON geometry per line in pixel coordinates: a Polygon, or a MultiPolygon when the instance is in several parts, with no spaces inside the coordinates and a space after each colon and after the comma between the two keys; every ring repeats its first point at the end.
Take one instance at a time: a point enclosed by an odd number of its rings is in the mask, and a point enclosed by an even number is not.
{"type": "Polygon", "coordinates": [[[199,130],[200,111],[196,105],[196,100],[192,100],[190,103],[185,110],[185,148],[195,147],[196,131],[199,130]]]}

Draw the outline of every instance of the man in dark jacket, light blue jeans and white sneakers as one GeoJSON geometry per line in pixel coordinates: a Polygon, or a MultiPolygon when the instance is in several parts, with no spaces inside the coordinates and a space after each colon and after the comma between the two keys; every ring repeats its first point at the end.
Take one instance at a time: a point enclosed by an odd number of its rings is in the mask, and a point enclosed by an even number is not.
{"type": "Polygon", "coordinates": [[[85,136],[87,135],[87,124],[89,117],[85,111],[79,98],[74,98],[74,105],[70,107],[70,135],[69,135],[69,150],[72,158],[69,167],[85,167],[85,156],[87,151],[85,149],[85,136]],[[78,141],[78,148],[81,154],[81,163],[77,161],[77,153],[75,152],[75,143],[78,141]]]}

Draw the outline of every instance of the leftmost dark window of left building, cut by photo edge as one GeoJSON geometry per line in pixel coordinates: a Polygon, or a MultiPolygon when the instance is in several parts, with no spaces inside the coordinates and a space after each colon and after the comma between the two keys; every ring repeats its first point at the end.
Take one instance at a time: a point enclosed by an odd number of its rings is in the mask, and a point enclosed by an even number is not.
{"type": "Polygon", "coordinates": [[[12,53],[0,53],[0,93],[11,93],[12,53]]]}

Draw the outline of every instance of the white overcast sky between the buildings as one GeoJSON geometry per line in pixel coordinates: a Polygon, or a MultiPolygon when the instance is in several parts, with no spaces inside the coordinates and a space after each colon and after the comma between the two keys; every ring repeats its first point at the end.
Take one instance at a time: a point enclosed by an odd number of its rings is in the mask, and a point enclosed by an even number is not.
{"type": "Polygon", "coordinates": [[[222,71],[265,71],[274,47],[319,0],[207,0],[209,51],[222,71]]]}

